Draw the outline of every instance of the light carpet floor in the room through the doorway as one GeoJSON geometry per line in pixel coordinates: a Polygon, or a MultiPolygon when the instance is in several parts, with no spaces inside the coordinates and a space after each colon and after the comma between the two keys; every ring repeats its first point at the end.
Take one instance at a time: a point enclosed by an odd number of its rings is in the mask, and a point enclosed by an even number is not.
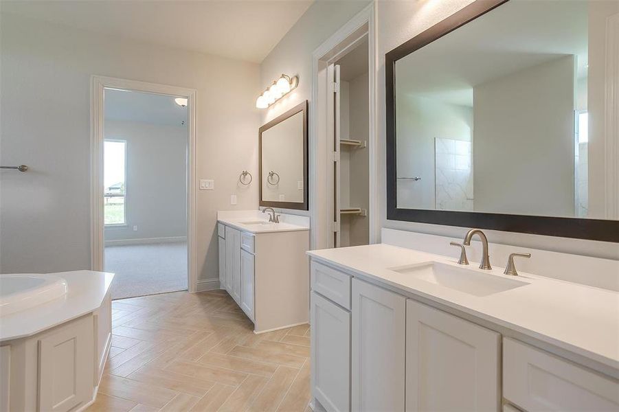
{"type": "Polygon", "coordinates": [[[116,274],[112,299],[187,289],[185,242],[105,247],[105,271],[116,274]]]}

